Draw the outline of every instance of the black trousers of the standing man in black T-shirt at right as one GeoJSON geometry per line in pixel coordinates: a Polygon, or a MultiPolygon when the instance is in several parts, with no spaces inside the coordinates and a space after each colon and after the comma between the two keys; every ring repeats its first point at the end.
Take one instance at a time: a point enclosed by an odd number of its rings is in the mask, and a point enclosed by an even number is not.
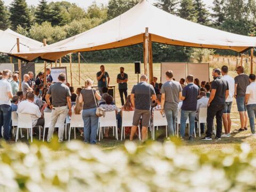
{"type": "Polygon", "coordinates": [[[216,137],[221,137],[222,132],[222,114],[223,110],[225,108],[225,105],[210,105],[207,108],[207,131],[206,131],[206,137],[212,137],[212,127],[213,127],[213,119],[214,116],[216,116],[216,122],[217,122],[217,131],[216,131],[216,137]]]}

